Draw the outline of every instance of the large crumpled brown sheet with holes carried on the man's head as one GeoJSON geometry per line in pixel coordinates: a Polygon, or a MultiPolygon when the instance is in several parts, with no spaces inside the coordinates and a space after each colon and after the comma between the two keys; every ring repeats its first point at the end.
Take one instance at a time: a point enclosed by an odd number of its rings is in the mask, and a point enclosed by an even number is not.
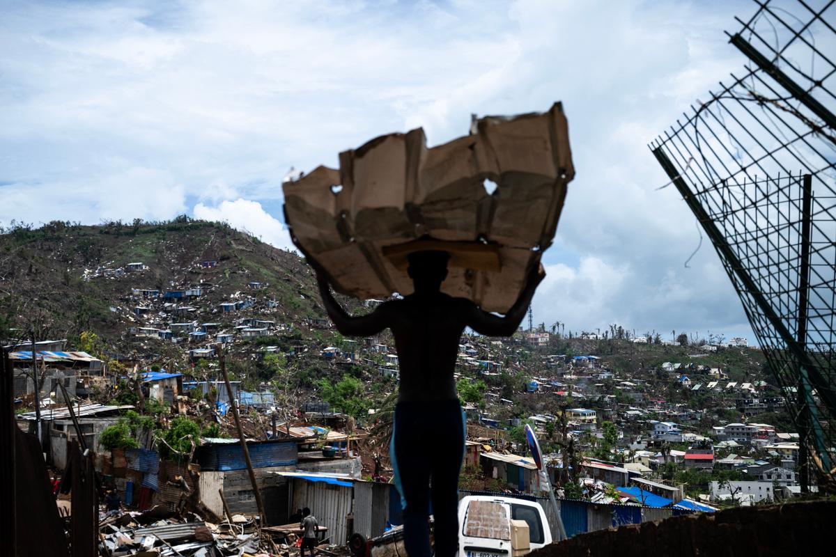
{"type": "Polygon", "coordinates": [[[424,130],[388,134],[284,184],[293,243],[361,299],[408,295],[406,255],[451,253],[441,290],[503,313],[551,246],[574,169],[560,103],[487,116],[432,149],[424,130]],[[492,194],[486,180],[496,184],[492,194]]]}

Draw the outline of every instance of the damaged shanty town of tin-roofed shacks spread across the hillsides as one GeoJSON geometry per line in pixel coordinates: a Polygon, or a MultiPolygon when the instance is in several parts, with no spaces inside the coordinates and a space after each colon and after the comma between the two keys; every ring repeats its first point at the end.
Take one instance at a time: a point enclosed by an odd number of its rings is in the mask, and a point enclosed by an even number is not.
{"type": "MultiPolygon", "coordinates": [[[[9,443],[18,472],[35,474],[17,508],[51,517],[57,554],[297,554],[306,507],[324,554],[401,524],[393,339],[288,313],[282,296],[310,295],[302,275],[232,284],[229,265],[192,258],[166,288],[141,261],[86,270],[120,293],[105,300],[116,337],[5,347],[9,443]]],[[[793,392],[770,381],[745,339],[531,317],[512,337],[465,335],[461,494],[546,497],[526,425],[558,497],[557,510],[543,499],[550,525],[560,513],[570,536],[815,491],[783,409],[793,392]]]]}

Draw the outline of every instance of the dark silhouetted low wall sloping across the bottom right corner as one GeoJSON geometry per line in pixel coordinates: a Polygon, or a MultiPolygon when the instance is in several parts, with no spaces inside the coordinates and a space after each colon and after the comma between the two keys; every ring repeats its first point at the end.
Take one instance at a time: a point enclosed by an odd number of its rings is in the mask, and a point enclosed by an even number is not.
{"type": "Polygon", "coordinates": [[[532,557],[830,554],[836,501],[743,507],[580,534],[532,557]],[[815,551],[815,553],[813,553],[815,551]]]}

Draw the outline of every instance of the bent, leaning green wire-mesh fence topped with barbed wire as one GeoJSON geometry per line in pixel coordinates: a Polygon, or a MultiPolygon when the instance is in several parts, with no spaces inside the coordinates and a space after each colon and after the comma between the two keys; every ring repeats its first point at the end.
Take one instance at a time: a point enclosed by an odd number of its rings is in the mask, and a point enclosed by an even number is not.
{"type": "Polygon", "coordinates": [[[748,58],[650,144],[717,254],[798,428],[807,470],[836,460],[836,0],[758,2],[727,33],[748,58]]]}

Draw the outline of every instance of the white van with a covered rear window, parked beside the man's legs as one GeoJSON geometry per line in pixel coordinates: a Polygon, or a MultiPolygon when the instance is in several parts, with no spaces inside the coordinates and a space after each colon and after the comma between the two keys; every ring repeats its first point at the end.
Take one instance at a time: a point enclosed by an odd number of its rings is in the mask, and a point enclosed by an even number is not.
{"type": "Polygon", "coordinates": [[[543,507],[525,499],[468,495],[459,501],[459,528],[459,557],[519,557],[552,543],[543,507]],[[528,524],[528,548],[515,539],[515,520],[528,524]]]}

